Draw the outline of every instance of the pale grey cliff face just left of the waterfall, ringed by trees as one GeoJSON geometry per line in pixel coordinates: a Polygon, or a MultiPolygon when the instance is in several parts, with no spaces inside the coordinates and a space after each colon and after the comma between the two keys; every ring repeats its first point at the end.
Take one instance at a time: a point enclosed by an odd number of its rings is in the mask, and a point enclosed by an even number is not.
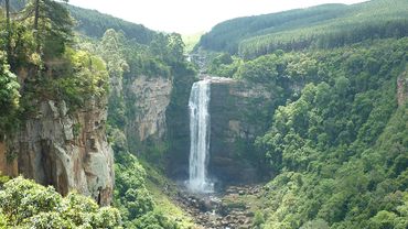
{"type": "Polygon", "coordinates": [[[170,103],[172,80],[138,76],[126,88],[128,121],[126,134],[133,152],[148,140],[163,140],[167,131],[165,111],[170,103]]]}

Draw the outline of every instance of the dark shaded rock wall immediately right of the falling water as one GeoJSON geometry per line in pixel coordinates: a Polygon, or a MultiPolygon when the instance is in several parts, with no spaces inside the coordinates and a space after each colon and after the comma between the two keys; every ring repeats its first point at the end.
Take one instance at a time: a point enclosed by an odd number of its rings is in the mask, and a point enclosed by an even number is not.
{"type": "Polygon", "coordinates": [[[265,133],[272,92],[259,84],[213,78],[208,172],[224,184],[260,179],[256,137],[265,133]]]}

